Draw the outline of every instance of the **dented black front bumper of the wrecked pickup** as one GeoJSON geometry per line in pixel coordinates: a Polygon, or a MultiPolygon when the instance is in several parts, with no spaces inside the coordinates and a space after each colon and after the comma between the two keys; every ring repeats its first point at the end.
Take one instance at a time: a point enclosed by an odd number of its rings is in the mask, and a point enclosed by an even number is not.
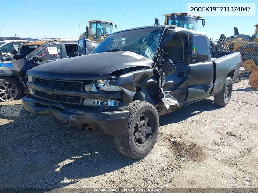
{"type": "Polygon", "coordinates": [[[22,105],[30,113],[53,116],[61,122],[97,125],[110,135],[126,134],[127,131],[129,111],[126,110],[105,112],[78,109],[56,102],[37,100],[31,95],[22,98],[22,105]]]}

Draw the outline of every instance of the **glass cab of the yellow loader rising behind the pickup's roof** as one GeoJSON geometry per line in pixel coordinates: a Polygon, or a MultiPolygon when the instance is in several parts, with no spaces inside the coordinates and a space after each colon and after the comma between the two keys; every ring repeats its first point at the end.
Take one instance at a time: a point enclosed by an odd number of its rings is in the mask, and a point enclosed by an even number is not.
{"type": "Polygon", "coordinates": [[[205,20],[201,16],[191,15],[189,13],[173,13],[165,14],[164,25],[175,25],[188,30],[196,31],[198,29],[198,21],[202,20],[202,26],[205,25],[205,20]]]}

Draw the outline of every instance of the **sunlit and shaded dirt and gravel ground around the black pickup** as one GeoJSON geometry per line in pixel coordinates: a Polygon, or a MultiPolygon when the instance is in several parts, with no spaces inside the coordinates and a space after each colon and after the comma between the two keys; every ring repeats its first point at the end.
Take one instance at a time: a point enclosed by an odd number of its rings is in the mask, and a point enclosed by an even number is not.
{"type": "Polygon", "coordinates": [[[2,102],[0,187],[258,187],[257,125],[258,106],[211,97],[161,116],[154,149],[133,160],[99,130],[67,132],[2,102]]]}

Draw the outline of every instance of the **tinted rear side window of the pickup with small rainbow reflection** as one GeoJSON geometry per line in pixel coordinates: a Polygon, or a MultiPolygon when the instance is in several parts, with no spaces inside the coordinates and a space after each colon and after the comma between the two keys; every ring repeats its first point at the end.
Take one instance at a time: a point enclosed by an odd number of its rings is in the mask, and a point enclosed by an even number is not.
{"type": "Polygon", "coordinates": [[[208,61],[208,41],[205,36],[194,36],[194,44],[192,48],[192,63],[208,61]]]}

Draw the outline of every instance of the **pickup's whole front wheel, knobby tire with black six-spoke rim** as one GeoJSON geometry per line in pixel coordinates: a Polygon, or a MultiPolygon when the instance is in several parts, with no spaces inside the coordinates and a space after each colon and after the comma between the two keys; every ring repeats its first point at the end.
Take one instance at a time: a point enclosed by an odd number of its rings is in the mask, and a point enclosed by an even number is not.
{"type": "Polygon", "coordinates": [[[123,155],[140,159],[151,152],[158,139],[158,113],[151,103],[145,101],[133,101],[126,110],[129,111],[127,132],[115,135],[114,142],[123,155]]]}

